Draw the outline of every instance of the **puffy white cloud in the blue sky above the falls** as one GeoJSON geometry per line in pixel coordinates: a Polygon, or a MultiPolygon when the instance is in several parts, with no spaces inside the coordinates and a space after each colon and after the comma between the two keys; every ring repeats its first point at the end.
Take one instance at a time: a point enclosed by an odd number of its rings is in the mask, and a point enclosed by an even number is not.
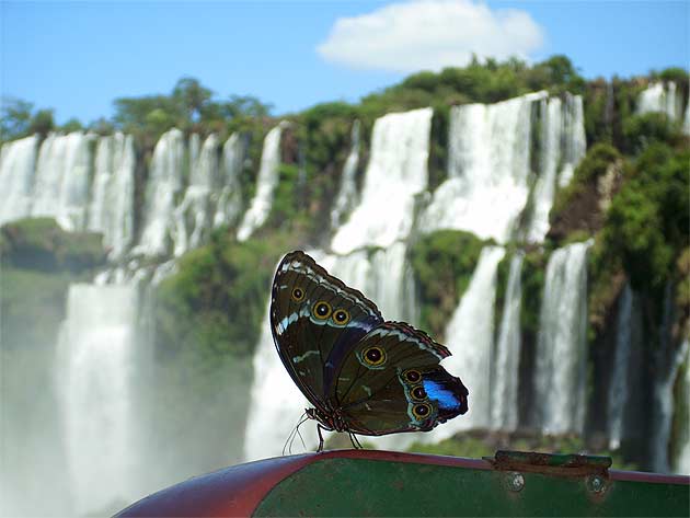
{"type": "Polygon", "coordinates": [[[473,53],[527,58],[542,43],[542,28],[525,11],[492,11],[471,0],[416,0],[336,20],[317,51],[353,68],[412,72],[463,66],[473,53]]]}

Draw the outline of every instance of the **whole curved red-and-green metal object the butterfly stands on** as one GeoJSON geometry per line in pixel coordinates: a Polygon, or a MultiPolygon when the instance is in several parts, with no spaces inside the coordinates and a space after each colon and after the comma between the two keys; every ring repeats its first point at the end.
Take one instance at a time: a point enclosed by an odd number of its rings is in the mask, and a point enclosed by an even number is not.
{"type": "Polygon", "coordinates": [[[220,470],[117,516],[687,516],[690,506],[688,476],[608,471],[607,458],[497,457],[566,471],[496,469],[497,459],[329,451],[220,470]]]}

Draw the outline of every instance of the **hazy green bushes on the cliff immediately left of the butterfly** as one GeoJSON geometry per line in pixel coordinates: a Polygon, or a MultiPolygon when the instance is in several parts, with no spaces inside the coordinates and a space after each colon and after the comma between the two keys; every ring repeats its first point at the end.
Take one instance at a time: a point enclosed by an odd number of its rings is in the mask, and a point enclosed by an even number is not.
{"type": "Polygon", "coordinates": [[[280,234],[237,243],[219,230],[210,244],[180,260],[157,292],[157,354],[192,349],[212,365],[226,355],[250,356],[266,312],[271,279],[290,250],[280,234]]]}

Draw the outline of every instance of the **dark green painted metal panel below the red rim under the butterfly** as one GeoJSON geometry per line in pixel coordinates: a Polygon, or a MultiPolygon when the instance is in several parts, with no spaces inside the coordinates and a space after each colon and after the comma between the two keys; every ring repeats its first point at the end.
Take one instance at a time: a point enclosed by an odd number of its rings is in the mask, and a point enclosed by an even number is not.
{"type": "Polygon", "coordinates": [[[688,485],[616,481],[606,472],[557,476],[331,458],[278,483],[254,516],[660,517],[688,516],[689,506],[688,485]]]}

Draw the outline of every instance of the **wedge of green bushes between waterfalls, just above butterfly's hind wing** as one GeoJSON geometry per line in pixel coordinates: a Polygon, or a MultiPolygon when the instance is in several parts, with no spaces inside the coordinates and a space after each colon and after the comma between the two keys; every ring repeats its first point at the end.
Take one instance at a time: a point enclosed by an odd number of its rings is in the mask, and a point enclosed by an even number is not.
{"type": "Polygon", "coordinates": [[[468,288],[485,242],[471,232],[439,230],[413,244],[411,256],[421,296],[421,326],[441,339],[468,288]]]}

